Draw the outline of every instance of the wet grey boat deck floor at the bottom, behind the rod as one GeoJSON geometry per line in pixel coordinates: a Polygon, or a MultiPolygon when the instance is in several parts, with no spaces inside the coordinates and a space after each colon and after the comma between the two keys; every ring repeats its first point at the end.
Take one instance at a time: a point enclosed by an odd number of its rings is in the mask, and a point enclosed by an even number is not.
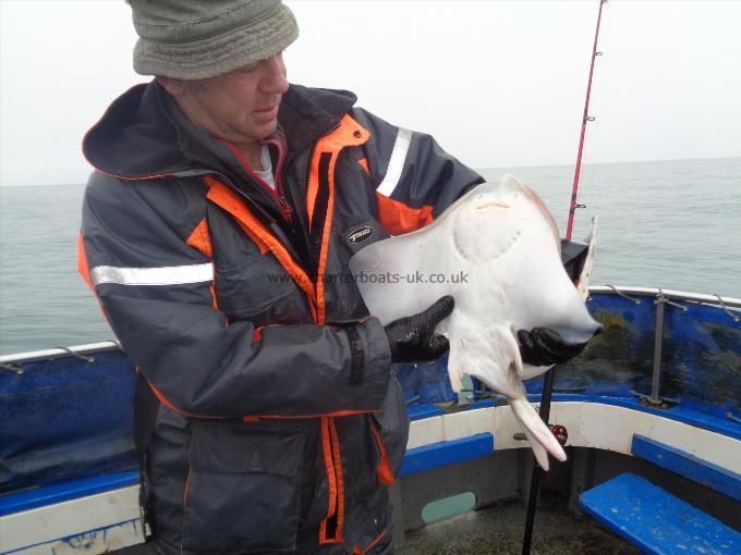
{"type": "MultiPolygon", "coordinates": [[[[478,513],[466,513],[408,532],[398,555],[485,555],[522,553],[525,507],[512,502],[478,513]]],[[[621,538],[594,520],[576,517],[563,507],[563,498],[543,496],[535,516],[532,555],[637,554],[621,538]]]]}

